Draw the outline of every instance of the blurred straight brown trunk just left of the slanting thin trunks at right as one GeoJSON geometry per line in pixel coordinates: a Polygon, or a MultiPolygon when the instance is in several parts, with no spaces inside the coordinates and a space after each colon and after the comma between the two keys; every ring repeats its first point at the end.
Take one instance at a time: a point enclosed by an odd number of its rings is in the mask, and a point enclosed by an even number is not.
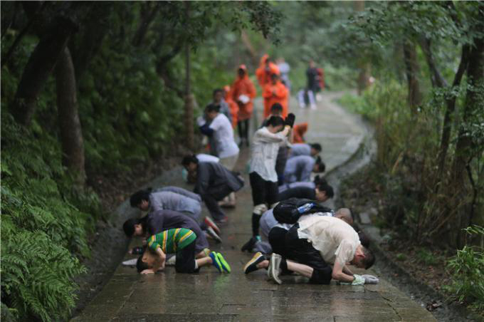
{"type": "Polygon", "coordinates": [[[417,62],[417,53],[415,44],[411,41],[405,41],[404,63],[406,68],[406,81],[409,87],[408,100],[411,111],[414,115],[417,113],[417,107],[421,104],[422,94],[419,85],[419,63],[417,62]]]}

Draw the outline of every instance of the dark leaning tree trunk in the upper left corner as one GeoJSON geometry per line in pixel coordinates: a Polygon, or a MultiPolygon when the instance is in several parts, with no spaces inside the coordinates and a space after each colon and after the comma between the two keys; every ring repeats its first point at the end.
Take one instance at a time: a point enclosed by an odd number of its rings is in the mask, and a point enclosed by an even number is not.
{"type": "Polygon", "coordinates": [[[28,125],[31,122],[38,95],[56,66],[69,36],[76,29],[77,26],[70,19],[56,18],[51,30],[44,34],[28,58],[11,104],[12,113],[20,124],[28,125]]]}

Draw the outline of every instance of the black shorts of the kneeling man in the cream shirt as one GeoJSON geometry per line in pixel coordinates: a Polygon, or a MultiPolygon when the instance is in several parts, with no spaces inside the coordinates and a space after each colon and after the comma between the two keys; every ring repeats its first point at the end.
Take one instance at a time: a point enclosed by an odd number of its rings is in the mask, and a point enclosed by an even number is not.
{"type": "Polygon", "coordinates": [[[320,251],[315,249],[307,239],[298,237],[299,224],[295,224],[285,235],[285,251],[288,259],[312,267],[312,284],[330,284],[332,268],[322,259],[320,251]]]}

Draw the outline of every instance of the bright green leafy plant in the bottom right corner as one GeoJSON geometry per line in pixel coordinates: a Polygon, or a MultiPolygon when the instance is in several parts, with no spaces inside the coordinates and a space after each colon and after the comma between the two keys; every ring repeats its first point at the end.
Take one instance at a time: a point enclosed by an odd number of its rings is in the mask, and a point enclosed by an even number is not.
{"type": "MultiPolygon", "coordinates": [[[[484,228],[464,229],[468,235],[484,238],[484,228]]],[[[465,301],[479,313],[484,313],[484,249],[482,246],[464,246],[448,261],[447,269],[452,283],[446,286],[458,301],[465,301]]]]}

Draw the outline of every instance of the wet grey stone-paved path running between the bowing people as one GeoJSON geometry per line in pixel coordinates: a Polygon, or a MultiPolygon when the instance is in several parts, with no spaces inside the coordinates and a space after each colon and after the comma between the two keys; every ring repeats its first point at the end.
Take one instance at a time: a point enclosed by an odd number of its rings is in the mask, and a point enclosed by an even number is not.
{"type": "MultiPolygon", "coordinates": [[[[293,108],[297,123],[309,122],[306,139],[322,144],[322,159],[330,169],[347,160],[365,135],[364,127],[331,103],[332,97],[325,95],[317,110],[293,108]]],[[[242,150],[236,170],[246,169],[248,154],[248,149],[242,150]]],[[[236,209],[227,211],[230,221],[222,227],[223,244],[211,247],[226,257],[231,274],[219,274],[212,266],[203,267],[199,274],[176,274],[167,266],[163,273],[140,275],[134,268],[118,266],[100,294],[73,321],[435,321],[384,280],[371,286],[321,286],[306,284],[302,277],[283,276],[283,284],[276,285],[266,281],[265,271],[243,274],[242,267],[251,258],[240,251],[251,237],[248,175],[246,179],[246,187],[237,194],[236,209]]],[[[162,185],[191,189],[177,171],[152,182],[152,187],[162,185]]],[[[133,240],[131,246],[140,243],[133,240]]],[[[126,259],[133,257],[127,254],[126,259]]]]}

